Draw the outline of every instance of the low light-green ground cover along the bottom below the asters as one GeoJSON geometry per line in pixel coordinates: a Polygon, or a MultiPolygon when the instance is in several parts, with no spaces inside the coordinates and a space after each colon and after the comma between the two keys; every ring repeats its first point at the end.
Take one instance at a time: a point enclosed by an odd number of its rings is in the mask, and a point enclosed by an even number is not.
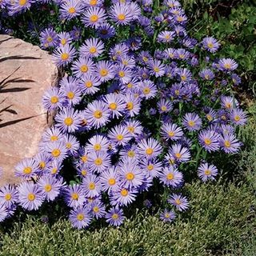
{"type": "Polygon", "coordinates": [[[246,184],[195,182],[186,191],[190,212],[174,224],[140,213],[119,228],[79,231],[63,219],[50,226],[29,217],[2,233],[0,255],[223,255],[238,250],[256,227],[246,184]]]}

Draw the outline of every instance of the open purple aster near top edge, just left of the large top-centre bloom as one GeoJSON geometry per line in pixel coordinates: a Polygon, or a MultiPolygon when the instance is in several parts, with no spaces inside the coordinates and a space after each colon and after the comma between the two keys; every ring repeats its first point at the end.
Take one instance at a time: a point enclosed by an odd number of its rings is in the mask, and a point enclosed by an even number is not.
{"type": "Polygon", "coordinates": [[[82,23],[85,26],[98,28],[102,22],[106,22],[106,11],[103,8],[90,7],[82,15],[82,23]]]}

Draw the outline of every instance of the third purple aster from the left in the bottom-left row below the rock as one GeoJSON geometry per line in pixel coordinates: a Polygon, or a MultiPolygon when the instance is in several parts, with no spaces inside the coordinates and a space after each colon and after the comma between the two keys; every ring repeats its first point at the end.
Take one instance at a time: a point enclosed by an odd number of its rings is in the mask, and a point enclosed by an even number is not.
{"type": "Polygon", "coordinates": [[[63,179],[55,178],[52,175],[43,175],[37,182],[38,188],[42,190],[42,194],[46,198],[47,202],[54,201],[60,194],[62,188],[63,179]]]}

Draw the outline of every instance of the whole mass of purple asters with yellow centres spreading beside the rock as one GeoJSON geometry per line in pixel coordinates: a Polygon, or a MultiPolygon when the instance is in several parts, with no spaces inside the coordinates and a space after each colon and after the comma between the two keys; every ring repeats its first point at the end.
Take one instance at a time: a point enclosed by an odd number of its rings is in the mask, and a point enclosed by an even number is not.
{"type": "MultiPolygon", "coordinates": [[[[34,2],[1,5],[17,15],[34,2]]],[[[150,0],[40,2],[58,7],[58,18],[72,28],[40,32],[42,48],[53,51],[66,76],[42,98],[57,114],[39,153],[15,167],[24,181],[0,190],[0,221],[17,205],[38,210],[61,197],[73,226],[98,218],[119,226],[139,194],[161,186],[169,196],[160,218],[171,222],[189,207],[185,172],[214,180],[218,170],[208,156],[241,146],[235,130],[246,114],[229,94],[241,82],[237,62],[217,58],[215,38],[190,38],[178,1],[165,0],[157,16],[150,0]],[[78,182],[63,178],[66,160],[78,182]]]]}

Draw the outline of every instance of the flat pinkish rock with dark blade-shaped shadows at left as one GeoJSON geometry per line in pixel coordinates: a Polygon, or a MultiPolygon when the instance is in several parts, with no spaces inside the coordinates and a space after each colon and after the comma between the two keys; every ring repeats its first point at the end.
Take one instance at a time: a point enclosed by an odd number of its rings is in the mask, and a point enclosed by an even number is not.
{"type": "Polygon", "coordinates": [[[46,51],[0,35],[0,186],[18,182],[14,166],[38,152],[48,126],[42,95],[57,82],[58,69],[46,51]]]}

